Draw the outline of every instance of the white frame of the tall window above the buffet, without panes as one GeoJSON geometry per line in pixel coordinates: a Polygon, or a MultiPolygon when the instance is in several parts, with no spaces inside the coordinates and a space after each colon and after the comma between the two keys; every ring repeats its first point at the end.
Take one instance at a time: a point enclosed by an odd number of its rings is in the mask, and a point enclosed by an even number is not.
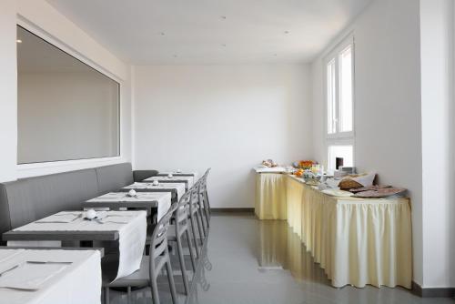
{"type": "MultiPolygon", "coordinates": [[[[355,131],[356,131],[356,118],[355,118],[355,108],[356,108],[356,94],[355,94],[355,40],[353,33],[349,33],[339,44],[334,46],[324,59],[322,60],[323,68],[323,90],[324,90],[324,132],[326,136],[326,157],[327,157],[327,168],[329,169],[329,147],[330,146],[352,146],[352,166],[355,166],[356,163],[356,145],[355,145],[355,131]],[[348,132],[339,132],[339,55],[351,46],[352,54],[352,130],[348,132]],[[337,101],[336,101],[336,133],[329,134],[329,104],[328,104],[328,70],[327,66],[329,62],[335,60],[335,83],[337,84],[337,101]]],[[[330,168],[334,169],[334,168],[330,168]]]]}

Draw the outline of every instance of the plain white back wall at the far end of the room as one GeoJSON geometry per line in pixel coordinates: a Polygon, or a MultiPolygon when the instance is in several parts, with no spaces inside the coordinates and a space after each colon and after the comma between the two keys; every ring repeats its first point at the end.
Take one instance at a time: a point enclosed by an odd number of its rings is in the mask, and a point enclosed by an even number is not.
{"type": "Polygon", "coordinates": [[[136,66],[136,168],[212,167],[215,208],[254,207],[251,168],[312,157],[308,66],[136,66]]]}

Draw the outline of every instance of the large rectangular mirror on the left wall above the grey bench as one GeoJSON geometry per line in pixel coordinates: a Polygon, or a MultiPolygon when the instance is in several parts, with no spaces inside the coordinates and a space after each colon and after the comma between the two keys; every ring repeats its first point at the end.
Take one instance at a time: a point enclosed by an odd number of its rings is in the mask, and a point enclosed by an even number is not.
{"type": "Polygon", "coordinates": [[[116,157],[120,85],[17,26],[17,162],[116,157]]]}

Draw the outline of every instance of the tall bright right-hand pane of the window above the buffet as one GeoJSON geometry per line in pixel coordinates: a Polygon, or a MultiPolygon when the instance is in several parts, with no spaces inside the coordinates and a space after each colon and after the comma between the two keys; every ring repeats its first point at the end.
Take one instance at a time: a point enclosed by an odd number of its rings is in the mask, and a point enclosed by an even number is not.
{"type": "Polygon", "coordinates": [[[352,131],[352,48],[339,55],[339,131],[352,131]]]}

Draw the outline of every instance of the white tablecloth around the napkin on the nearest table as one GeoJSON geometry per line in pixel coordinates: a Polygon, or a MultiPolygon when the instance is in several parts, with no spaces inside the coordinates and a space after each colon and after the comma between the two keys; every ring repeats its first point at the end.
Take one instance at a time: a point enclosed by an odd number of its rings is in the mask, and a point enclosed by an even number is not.
{"type": "MultiPolygon", "coordinates": [[[[71,262],[37,290],[0,289],[0,304],[81,304],[101,302],[101,258],[97,250],[0,249],[0,272],[25,261],[71,262]],[[5,256],[10,256],[5,258],[5,256]]],[[[39,269],[39,265],[35,265],[39,269]]],[[[15,278],[14,270],[9,272],[15,278]]],[[[5,276],[5,281],[7,281],[5,276]]],[[[22,277],[23,278],[23,277],[22,277]]],[[[19,278],[20,279],[20,278],[19,278]]],[[[26,278],[24,278],[26,279],[26,278]]]]}

